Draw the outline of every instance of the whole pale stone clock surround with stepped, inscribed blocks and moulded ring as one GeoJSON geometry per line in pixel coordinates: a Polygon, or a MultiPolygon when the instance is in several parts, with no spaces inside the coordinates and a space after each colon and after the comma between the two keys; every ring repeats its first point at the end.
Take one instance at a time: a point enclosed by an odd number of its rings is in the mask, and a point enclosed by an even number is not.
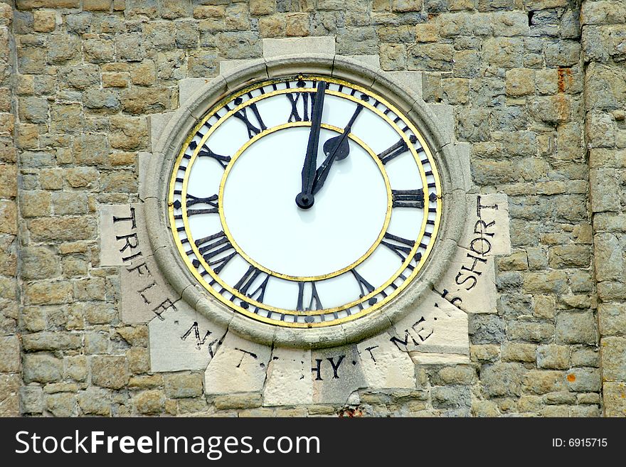
{"type": "Polygon", "coordinates": [[[262,58],[221,62],[211,80],[181,80],[179,109],[149,117],[140,202],[100,207],[100,263],[120,267],[122,321],[148,323],[152,371],[205,371],[206,394],[262,392],[265,405],[284,405],[345,403],[363,387],[410,389],[416,364],[469,363],[468,314],[497,312],[494,256],[511,251],[506,195],[472,186],[470,145],[455,139],[452,107],[422,100],[420,72],[386,72],[378,56],[335,55],[334,44],[265,39],[262,58]],[[166,224],[171,166],[198,119],[240,87],[299,73],[344,78],[401,109],[433,151],[443,193],[433,251],[403,293],[354,321],[311,329],[226,308],[186,268],[166,224]]]}

